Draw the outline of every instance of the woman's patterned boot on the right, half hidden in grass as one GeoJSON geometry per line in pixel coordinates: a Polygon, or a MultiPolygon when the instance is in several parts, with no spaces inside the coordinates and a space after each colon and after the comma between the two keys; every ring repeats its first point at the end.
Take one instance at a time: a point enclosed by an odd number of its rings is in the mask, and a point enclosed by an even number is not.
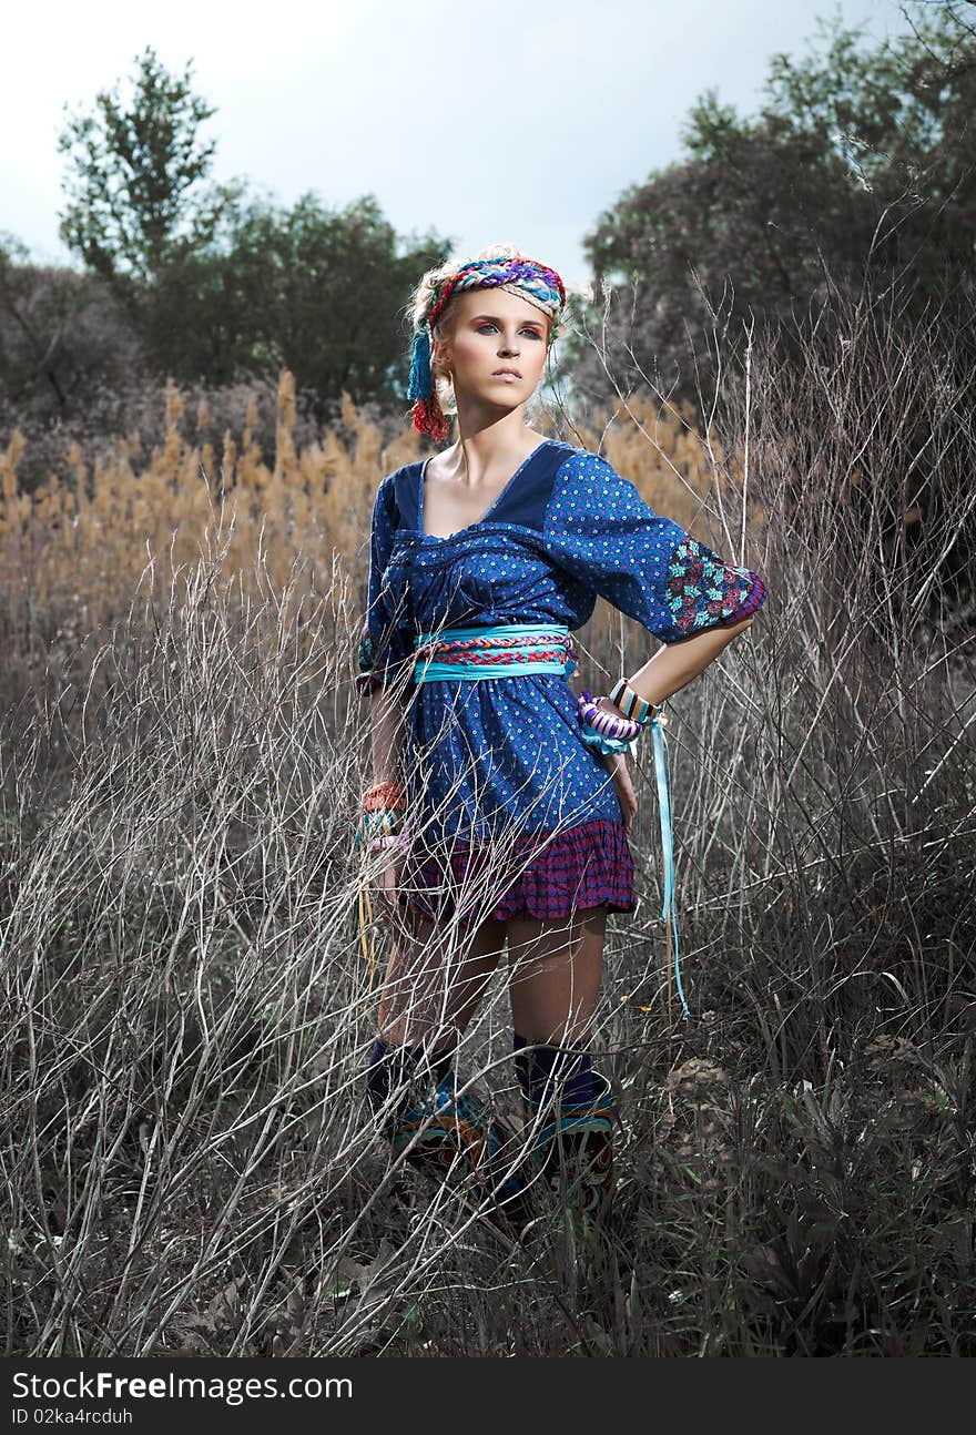
{"type": "Polygon", "coordinates": [[[613,1204],[613,1128],[620,1109],[606,1076],[593,1072],[593,1104],[568,1106],[522,1098],[537,1178],[586,1228],[601,1224],[613,1204]]]}

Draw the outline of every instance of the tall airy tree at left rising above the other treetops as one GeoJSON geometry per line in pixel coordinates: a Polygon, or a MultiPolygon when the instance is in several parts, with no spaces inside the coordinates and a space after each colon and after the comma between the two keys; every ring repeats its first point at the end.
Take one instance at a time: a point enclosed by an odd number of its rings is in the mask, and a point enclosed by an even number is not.
{"type": "Polygon", "coordinates": [[[57,141],[69,198],[60,237],[131,307],[166,265],[212,241],[241,189],[204,185],[215,141],[200,129],[215,109],[192,93],[192,62],[169,75],[148,46],[135,63],[131,99],[118,85],[99,92],[95,110],[69,115],[57,141]]]}

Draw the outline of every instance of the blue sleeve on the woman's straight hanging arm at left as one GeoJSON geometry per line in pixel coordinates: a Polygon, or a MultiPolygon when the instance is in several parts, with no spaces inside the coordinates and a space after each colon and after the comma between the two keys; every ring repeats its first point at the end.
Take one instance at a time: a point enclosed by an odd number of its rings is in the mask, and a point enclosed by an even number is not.
{"type": "Polygon", "coordinates": [[[379,687],[389,687],[403,677],[408,667],[413,666],[413,639],[412,627],[406,618],[406,593],[403,585],[390,581],[388,573],[396,524],[396,497],[392,475],[388,475],[379,485],[373,504],[366,620],[357,653],[356,692],[360,696],[379,687]]]}

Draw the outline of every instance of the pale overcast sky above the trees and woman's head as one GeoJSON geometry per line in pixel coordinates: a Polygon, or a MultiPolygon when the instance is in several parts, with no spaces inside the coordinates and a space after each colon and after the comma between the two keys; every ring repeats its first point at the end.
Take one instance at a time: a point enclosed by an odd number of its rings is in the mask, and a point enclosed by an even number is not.
{"type": "Polygon", "coordinates": [[[42,263],[57,238],[63,108],[90,109],[152,44],[217,113],[215,179],[278,204],[375,194],[402,235],[433,231],[466,257],[494,241],[587,277],[583,234],[620,191],[680,156],[710,86],[756,109],[769,56],[807,53],[840,13],[881,40],[896,0],[537,0],[531,7],[399,0],[293,6],[234,0],[22,3],[4,14],[0,230],[42,263]]]}

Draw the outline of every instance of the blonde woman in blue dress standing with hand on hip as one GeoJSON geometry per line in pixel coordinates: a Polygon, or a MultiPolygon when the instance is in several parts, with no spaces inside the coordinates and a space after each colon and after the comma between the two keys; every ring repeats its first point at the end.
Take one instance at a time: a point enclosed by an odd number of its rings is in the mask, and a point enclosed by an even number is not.
{"type": "Polygon", "coordinates": [[[456,438],[389,474],[373,509],[357,687],[376,781],[360,839],[389,847],[393,947],[367,1092],[396,1151],[462,1154],[502,1203],[544,1172],[591,1215],[610,1197],[616,1106],[590,1030],[607,913],[634,910],[627,746],[765,588],[603,458],[527,426],[564,304],[558,274],[505,245],[429,271],[415,294],[413,423],[448,436],[446,386],[456,438]],[[587,705],[567,682],[570,633],[597,596],[665,647],[587,705]],[[528,1167],[455,1072],[505,947],[528,1167]]]}

